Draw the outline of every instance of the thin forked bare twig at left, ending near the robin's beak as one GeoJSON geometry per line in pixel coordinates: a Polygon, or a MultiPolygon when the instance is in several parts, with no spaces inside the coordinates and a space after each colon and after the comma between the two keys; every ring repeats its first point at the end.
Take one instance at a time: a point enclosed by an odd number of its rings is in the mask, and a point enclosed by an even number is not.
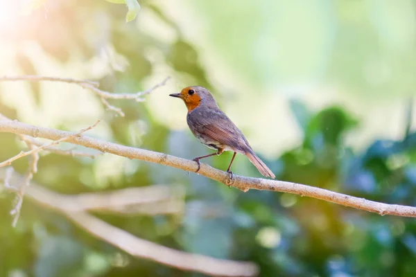
{"type": "Polygon", "coordinates": [[[101,89],[98,89],[98,82],[89,81],[89,80],[78,80],[78,79],[71,79],[71,78],[56,78],[56,77],[44,77],[44,76],[35,76],[35,75],[26,75],[26,76],[14,76],[14,77],[7,77],[3,76],[0,77],[0,82],[2,81],[31,81],[31,82],[40,82],[40,81],[51,81],[51,82],[67,82],[72,84],[78,84],[78,86],[83,87],[84,89],[89,89],[93,93],[95,93],[97,96],[100,97],[101,102],[103,102],[103,105],[110,110],[114,111],[120,116],[124,116],[123,111],[118,108],[114,107],[110,104],[110,102],[107,101],[107,99],[130,99],[135,100],[137,102],[143,102],[144,96],[146,96],[148,93],[154,91],[158,87],[164,86],[166,82],[170,79],[170,77],[167,77],[165,80],[160,82],[159,84],[156,84],[154,87],[146,90],[146,91],[138,91],[136,93],[111,93],[108,91],[103,91],[101,89]]]}

